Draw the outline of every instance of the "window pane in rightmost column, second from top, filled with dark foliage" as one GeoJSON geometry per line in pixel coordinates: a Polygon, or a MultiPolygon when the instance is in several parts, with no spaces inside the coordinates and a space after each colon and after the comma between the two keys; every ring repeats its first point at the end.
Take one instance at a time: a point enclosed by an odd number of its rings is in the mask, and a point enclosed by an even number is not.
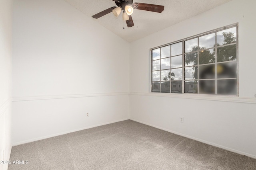
{"type": "Polygon", "coordinates": [[[217,48],[217,62],[236,61],[236,44],[217,48]]]}

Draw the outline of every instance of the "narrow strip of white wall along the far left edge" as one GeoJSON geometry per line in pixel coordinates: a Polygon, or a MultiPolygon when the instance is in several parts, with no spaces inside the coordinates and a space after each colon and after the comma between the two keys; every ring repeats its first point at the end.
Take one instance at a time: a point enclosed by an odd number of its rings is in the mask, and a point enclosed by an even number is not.
{"type": "MultiPolygon", "coordinates": [[[[0,160],[11,152],[12,0],[0,0],[0,160]]],[[[1,170],[8,165],[0,164],[1,170]]]]}

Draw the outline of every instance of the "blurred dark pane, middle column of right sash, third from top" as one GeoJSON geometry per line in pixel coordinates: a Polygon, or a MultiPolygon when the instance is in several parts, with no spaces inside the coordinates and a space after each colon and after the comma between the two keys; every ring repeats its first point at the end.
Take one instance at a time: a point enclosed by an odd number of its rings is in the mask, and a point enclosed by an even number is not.
{"type": "Polygon", "coordinates": [[[199,66],[199,79],[215,78],[215,64],[199,66]]]}

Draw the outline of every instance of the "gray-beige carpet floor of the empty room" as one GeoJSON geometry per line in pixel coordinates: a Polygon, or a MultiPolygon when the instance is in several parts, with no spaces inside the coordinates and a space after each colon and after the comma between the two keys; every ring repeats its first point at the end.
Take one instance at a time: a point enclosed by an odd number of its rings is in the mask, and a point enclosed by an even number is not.
{"type": "Polygon", "coordinates": [[[12,147],[8,170],[256,170],[256,159],[127,120],[12,147]]]}

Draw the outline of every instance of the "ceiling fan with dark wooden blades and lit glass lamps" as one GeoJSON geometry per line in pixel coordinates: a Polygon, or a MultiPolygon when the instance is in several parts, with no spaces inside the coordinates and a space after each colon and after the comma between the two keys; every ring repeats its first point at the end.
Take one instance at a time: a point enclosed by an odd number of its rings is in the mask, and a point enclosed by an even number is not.
{"type": "Polygon", "coordinates": [[[133,3],[133,0],[112,0],[112,1],[116,2],[117,7],[113,6],[111,8],[108,8],[102,12],[99,12],[98,14],[93,15],[92,18],[98,19],[106,14],[109,14],[110,12],[113,12],[114,16],[117,17],[123,10],[123,20],[126,21],[127,27],[132,27],[134,26],[134,23],[131,15],[134,9],[158,12],[158,13],[161,13],[164,10],[164,6],[162,5],[144,4],[144,3],[138,3],[138,2],[133,3]]]}

